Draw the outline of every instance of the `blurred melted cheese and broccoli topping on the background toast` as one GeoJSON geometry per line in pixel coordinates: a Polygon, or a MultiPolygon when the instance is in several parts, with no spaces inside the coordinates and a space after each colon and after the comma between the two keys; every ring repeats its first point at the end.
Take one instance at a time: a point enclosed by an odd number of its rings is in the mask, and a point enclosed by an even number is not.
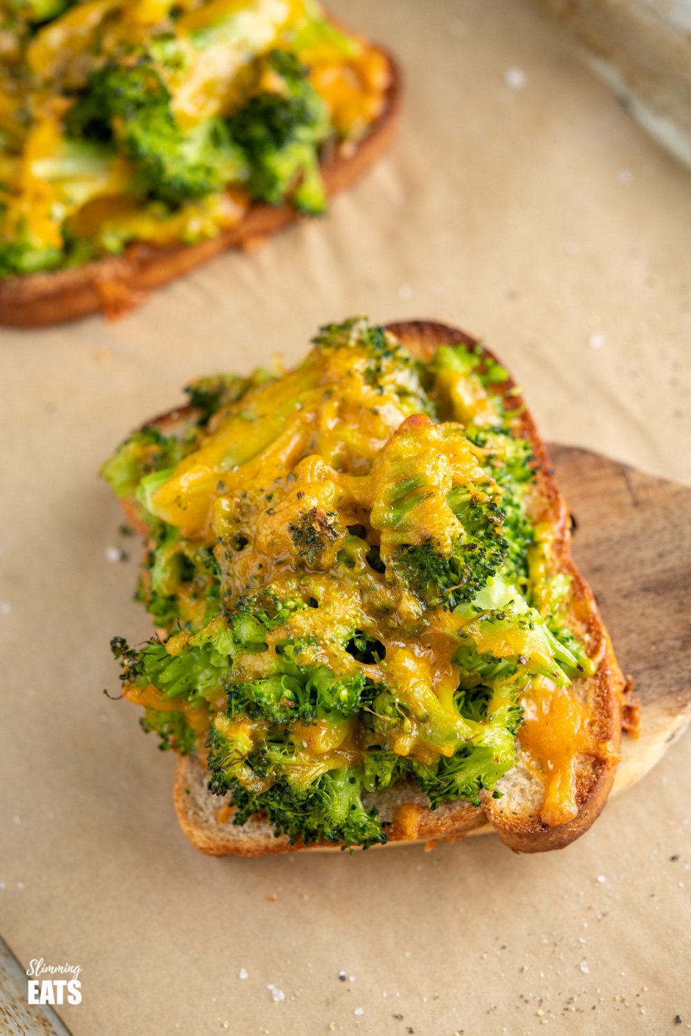
{"type": "Polygon", "coordinates": [[[0,277],[321,213],[391,77],[317,0],[18,0],[0,47],[0,277]]]}

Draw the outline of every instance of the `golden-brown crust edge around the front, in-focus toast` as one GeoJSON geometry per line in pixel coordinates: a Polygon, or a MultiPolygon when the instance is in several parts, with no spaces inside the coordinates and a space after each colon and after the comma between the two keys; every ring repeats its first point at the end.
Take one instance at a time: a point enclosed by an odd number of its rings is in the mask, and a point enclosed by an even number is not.
{"type": "MultiPolygon", "coordinates": [[[[431,321],[405,321],[387,325],[399,341],[413,354],[429,358],[443,344],[464,342],[478,346],[476,339],[445,324],[431,321]]],[[[488,358],[496,358],[483,346],[488,358]]],[[[520,407],[522,400],[513,380],[503,385],[507,401],[512,408],[520,407]]],[[[163,432],[173,432],[176,428],[193,422],[198,411],[183,407],[155,419],[152,423],[163,432]]],[[[537,486],[544,501],[544,518],[554,529],[554,545],[560,571],[572,577],[574,604],[578,622],[585,628],[591,645],[591,654],[600,657],[597,673],[584,684],[588,712],[594,731],[598,739],[609,742],[616,748],[622,727],[622,695],[625,681],[614,656],[607,631],[600,616],[593,592],[571,558],[570,518],[564,498],[556,486],[547,451],[542,442],[529,413],[523,409],[519,433],[527,438],[537,461],[537,486]]],[[[146,534],[137,509],[129,501],[123,501],[127,518],[138,531],[146,534]]],[[[285,836],[275,836],[270,825],[261,818],[253,818],[243,827],[235,827],[232,818],[218,819],[222,800],[206,790],[206,770],[196,757],[179,759],[175,777],[174,802],[180,826],[188,838],[201,852],[212,856],[259,856],[263,854],[287,853],[310,848],[312,851],[337,851],[338,845],[316,844],[304,846],[296,842],[289,844],[285,836]]],[[[549,827],[537,812],[522,808],[512,809],[511,797],[495,800],[485,796],[480,808],[465,801],[445,803],[432,810],[422,806],[424,796],[414,785],[399,788],[398,795],[378,793],[373,797],[382,815],[392,817],[387,829],[387,845],[411,842],[434,842],[444,839],[463,838],[471,833],[494,830],[511,848],[520,853],[538,853],[563,848],[583,834],[602,810],[614,777],[612,759],[584,759],[579,768],[576,781],[578,813],[567,824],[549,827]],[[401,797],[402,796],[402,797],[401,797]],[[392,804],[392,800],[395,800],[392,804]],[[383,807],[383,808],[382,808],[383,807]],[[401,809],[403,807],[403,809],[401,809]]]]}

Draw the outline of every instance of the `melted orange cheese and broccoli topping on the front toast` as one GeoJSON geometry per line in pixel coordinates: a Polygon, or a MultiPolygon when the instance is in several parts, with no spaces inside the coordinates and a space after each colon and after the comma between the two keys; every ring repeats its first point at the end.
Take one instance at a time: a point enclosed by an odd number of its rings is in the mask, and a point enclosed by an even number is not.
{"type": "Polygon", "coordinates": [[[613,760],[588,700],[604,642],[506,381],[480,348],[423,362],[351,319],[292,371],[196,382],[176,433],[145,426],[106,464],[148,529],[161,631],[114,640],[125,693],[237,823],[385,841],[363,796],[407,780],[432,808],[480,804],[520,751],[559,825],[575,762],[613,760]]]}

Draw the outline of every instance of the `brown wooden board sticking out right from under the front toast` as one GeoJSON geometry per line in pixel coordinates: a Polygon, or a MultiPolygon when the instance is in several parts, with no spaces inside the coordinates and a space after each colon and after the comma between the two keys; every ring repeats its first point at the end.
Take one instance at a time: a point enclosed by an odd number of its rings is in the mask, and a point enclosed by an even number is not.
{"type": "Polygon", "coordinates": [[[573,554],[641,704],[614,794],[655,766],[691,717],[691,489],[572,447],[549,452],[573,554]]]}

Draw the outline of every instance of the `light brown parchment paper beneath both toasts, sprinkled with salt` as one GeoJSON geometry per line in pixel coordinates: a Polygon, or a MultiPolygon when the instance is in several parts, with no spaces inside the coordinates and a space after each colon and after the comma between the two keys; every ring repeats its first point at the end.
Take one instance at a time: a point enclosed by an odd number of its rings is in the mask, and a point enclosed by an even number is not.
{"type": "Polygon", "coordinates": [[[292,362],[326,320],[460,324],[546,438],[690,478],[689,174],[517,0],[335,8],[399,55],[407,107],[327,220],[118,323],[0,335],[0,931],[83,969],[75,1036],[685,1031],[688,737],[560,854],[213,860],[178,830],[174,759],[102,695],[110,637],[149,623],[98,464],[191,377],[292,362]]]}

